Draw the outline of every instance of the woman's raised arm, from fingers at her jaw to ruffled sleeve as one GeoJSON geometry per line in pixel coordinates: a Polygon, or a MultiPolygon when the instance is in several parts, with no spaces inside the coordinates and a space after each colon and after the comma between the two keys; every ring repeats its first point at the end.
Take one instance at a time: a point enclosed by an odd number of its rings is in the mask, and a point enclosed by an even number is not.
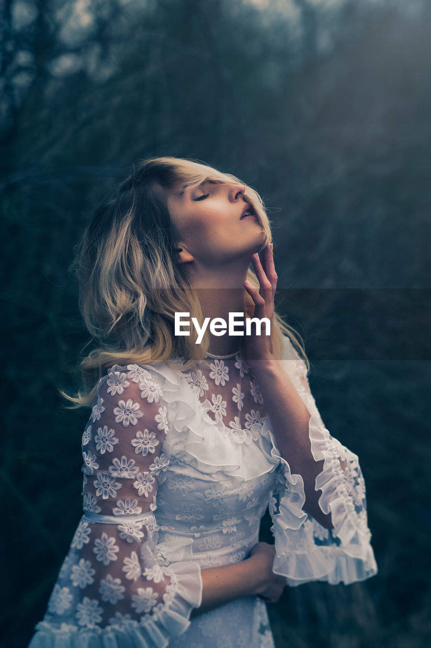
{"type": "MultiPolygon", "coordinates": [[[[245,287],[254,300],[254,316],[271,321],[277,281],[271,247],[265,251],[266,273],[257,255],[253,263],[260,292],[247,283],[245,287]]],[[[280,459],[280,488],[269,502],[274,572],[284,575],[290,586],[370,578],[377,563],[359,458],[326,429],[305,362],[287,336],[280,360],[274,357],[270,336],[249,336],[245,351],[269,414],[261,434],[271,442],[271,456],[280,459]]]]}

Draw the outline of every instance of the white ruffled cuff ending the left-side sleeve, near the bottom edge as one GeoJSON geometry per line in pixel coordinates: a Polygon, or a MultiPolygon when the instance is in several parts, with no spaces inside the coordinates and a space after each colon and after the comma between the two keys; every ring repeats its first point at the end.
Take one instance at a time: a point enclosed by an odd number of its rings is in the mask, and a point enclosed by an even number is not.
{"type": "Polygon", "coordinates": [[[105,628],[79,628],[63,623],[54,626],[49,621],[36,625],[28,648],[166,648],[172,638],[190,626],[192,609],[202,603],[203,583],[197,562],[177,562],[168,567],[171,585],[152,614],[140,621],[118,620],[105,628]]]}

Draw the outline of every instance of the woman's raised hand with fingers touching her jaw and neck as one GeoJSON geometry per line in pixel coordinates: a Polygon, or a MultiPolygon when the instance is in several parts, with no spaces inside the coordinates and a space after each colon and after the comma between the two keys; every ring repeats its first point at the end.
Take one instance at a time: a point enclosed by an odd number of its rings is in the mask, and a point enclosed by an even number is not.
{"type": "Polygon", "coordinates": [[[272,244],[267,244],[263,250],[263,266],[259,255],[256,253],[252,256],[252,263],[256,277],[258,277],[260,288],[252,288],[245,281],[244,288],[252,297],[255,308],[254,317],[268,318],[271,323],[271,336],[266,335],[265,322],[261,325],[261,334],[256,335],[256,325],[251,327],[251,335],[245,336],[245,356],[247,363],[252,366],[254,362],[261,364],[268,360],[274,359],[274,343],[272,335],[272,325],[274,318],[274,295],[276,292],[277,275],[274,267],[274,255],[272,254],[272,244]]]}

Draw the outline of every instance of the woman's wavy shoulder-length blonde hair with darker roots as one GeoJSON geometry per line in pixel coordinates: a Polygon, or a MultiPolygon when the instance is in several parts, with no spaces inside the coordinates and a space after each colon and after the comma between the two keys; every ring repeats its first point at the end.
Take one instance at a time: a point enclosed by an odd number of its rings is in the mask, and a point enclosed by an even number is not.
{"type": "MultiPolygon", "coordinates": [[[[177,231],[168,211],[168,192],[204,180],[241,182],[204,163],[178,157],[153,157],[133,165],[133,172],[118,186],[113,198],[94,210],[93,218],[74,249],[71,265],[79,284],[79,307],[85,326],[98,346],[78,365],[83,390],[60,394],[70,408],[91,406],[97,384],[109,367],[118,365],[175,365],[177,358],[189,369],[203,362],[210,338],[206,330],[200,345],[190,336],[174,335],[175,312],[189,312],[203,321],[201,304],[188,281],[186,265],[175,245],[177,231]]],[[[245,185],[249,202],[265,232],[262,248],[271,242],[271,227],[259,194],[245,185]]],[[[247,279],[260,284],[253,270],[247,279]]],[[[254,314],[254,301],[245,292],[246,317],[254,314]]],[[[309,368],[300,336],[274,313],[274,352],[282,353],[287,335],[309,368]]],[[[243,354],[241,357],[246,362],[243,354]]],[[[247,364],[247,362],[246,362],[247,364]]]]}

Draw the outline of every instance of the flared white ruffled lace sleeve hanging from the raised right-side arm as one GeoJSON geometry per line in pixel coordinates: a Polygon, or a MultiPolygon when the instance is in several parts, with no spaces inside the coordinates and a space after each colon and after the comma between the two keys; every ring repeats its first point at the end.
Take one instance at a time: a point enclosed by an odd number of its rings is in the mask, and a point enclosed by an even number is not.
{"type": "Polygon", "coordinates": [[[311,394],[307,369],[285,338],[283,366],[310,413],[309,437],[315,461],[324,460],[315,489],[322,489],[318,504],[331,513],[333,529],[326,529],[303,510],[302,476],[292,474],[280,455],[272,430],[272,456],[280,458],[279,485],[269,502],[276,557],[274,573],[284,575],[290,586],[308,581],[344,584],[362,581],[377,573],[370,544],[366,490],[359,459],[329,434],[311,394]]]}

